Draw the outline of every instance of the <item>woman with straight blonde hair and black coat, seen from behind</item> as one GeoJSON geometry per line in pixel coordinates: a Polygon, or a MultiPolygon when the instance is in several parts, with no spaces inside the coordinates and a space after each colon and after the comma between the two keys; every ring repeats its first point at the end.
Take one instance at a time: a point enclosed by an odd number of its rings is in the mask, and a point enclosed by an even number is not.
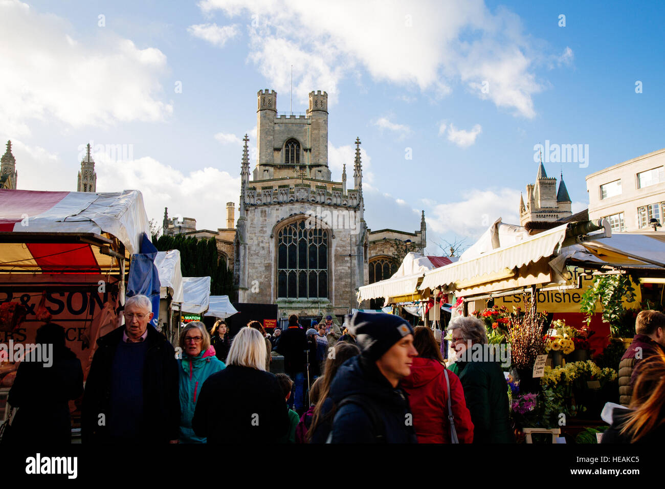
{"type": "Polygon", "coordinates": [[[272,443],[289,429],[282,390],[265,371],[265,338],[243,327],[233,338],[227,367],[201,388],[192,427],[208,443],[272,443]]]}

